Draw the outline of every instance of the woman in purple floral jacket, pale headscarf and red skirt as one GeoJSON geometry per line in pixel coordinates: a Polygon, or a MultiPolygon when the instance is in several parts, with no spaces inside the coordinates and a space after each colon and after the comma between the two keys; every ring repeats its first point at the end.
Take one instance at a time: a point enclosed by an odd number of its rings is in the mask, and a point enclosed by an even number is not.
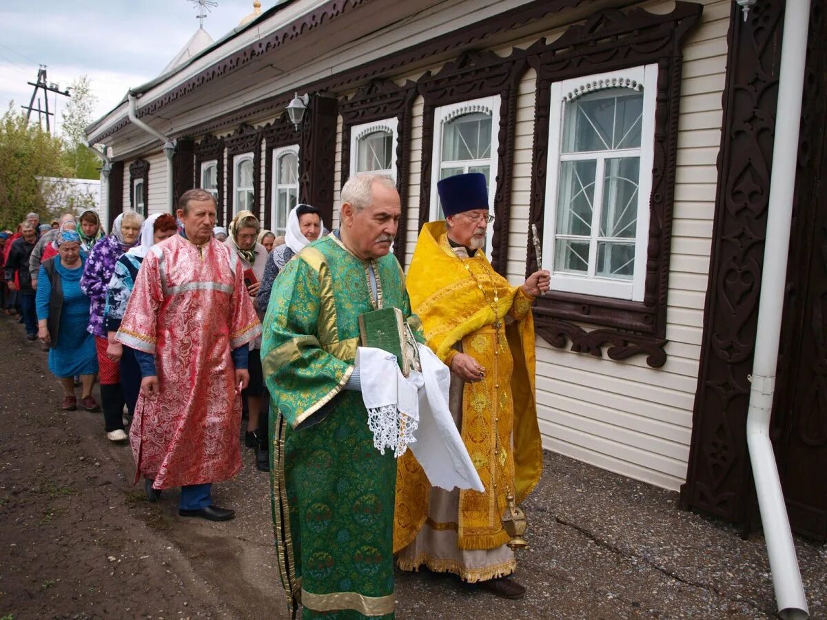
{"type": "Polygon", "coordinates": [[[120,369],[106,354],[108,341],[103,328],[103,310],[106,308],[106,293],[115,271],[115,263],[124,252],[136,246],[143,221],[143,216],[131,209],[116,217],[112,224],[112,234],[103,237],[92,248],[84,267],[84,277],[80,279],[80,289],[91,302],[88,331],[95,336],[95,349],[98,351],[98,373],[107,433],[123,431],[125,402],[120,369]]]}

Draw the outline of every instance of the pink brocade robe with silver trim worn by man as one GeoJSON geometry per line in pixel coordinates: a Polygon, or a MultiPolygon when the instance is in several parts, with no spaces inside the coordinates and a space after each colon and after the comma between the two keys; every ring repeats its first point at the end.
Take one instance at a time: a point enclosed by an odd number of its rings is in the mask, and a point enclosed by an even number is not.
{"type": "Polygon", "coordinates": [[[235,252],[171,236],[141,265],[117,340],[155,355],[160,393],[138,396],[129,439],[155,489],[241,470],[241,395],[230,351],[261,335],[235,252]]]}

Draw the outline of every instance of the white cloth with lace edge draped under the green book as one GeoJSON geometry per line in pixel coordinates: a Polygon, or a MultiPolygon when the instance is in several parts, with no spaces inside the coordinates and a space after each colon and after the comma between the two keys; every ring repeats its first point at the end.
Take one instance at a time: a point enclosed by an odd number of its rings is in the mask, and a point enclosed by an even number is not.
{"type": "Polygon", "coordinates": [[[418,345],[422,373],[405,379],[395,355],[370,347],[356,350],[362,399],[374,446],[399,458],[410,447],[433,486],[451,490],[485,487],[476,473],[448,409],[451,371],[427,346],[418,345]]]}

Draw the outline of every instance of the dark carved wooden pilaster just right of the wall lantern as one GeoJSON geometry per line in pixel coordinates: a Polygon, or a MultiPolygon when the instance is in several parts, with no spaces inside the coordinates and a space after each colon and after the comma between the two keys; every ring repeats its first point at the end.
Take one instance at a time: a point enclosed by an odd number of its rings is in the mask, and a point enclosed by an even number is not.
{"type": "Polygon", "coordinates": [[[299,201],[333,217],[333,172],[336,165],[337,103],[332,97],[313,95],[302,123],[299,201]]]}

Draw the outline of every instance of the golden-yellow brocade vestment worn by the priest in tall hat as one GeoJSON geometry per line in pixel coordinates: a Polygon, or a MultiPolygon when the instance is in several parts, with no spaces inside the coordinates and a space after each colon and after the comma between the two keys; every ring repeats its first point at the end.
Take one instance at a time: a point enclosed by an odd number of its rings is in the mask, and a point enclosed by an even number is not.
{"type": "MultiPolygon", "coordinates": [[[[485,493],[461,490],[456,527],[460,549],[494,549],[509,541],[500,521],[506,495],[512,492],[522,502],[543,468],[533,300],[497,274],[483,252],[458,257],[445,222],[423,227],[407,282],[412,310],[437,357],[450,365],[457,354],[453,347],[461,344],[486,370],[484,379],[463,388],[460,428],[485,493]]],[[[414,541],[428,518],[430,489],[414,455],[406,452],[397,469],[394,552],[414,541]]]]}

